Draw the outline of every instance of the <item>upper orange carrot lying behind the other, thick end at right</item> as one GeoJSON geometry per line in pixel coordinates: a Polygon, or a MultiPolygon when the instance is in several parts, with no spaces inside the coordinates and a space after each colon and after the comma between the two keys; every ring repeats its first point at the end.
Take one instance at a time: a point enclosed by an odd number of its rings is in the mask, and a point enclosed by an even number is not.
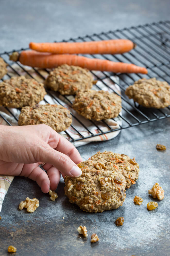
{"type": "Polygon", "coordinates": [[[34,43],[30,49],[57,54],[116,54],[132,50],[136,45],[128,39],[102,40],[90,42],[34,43]]]}

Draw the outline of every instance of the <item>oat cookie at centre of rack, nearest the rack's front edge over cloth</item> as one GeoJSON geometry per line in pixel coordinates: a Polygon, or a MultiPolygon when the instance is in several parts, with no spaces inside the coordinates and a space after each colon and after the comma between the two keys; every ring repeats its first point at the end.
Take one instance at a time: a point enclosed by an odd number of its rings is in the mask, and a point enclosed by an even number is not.
{"type": "Polygon", "coordinates": [[[114,118],[121,111],[121,97],[108,91],[84,90],[77,92],[73,109],[87,119],[114,118]]]}

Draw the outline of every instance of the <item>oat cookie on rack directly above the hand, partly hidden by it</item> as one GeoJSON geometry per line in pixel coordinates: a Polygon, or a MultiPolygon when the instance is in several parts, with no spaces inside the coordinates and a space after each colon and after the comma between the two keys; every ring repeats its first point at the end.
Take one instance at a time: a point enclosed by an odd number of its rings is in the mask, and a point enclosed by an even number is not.
{"type": "Polygon", "coordinates": [[[19,125],[47,124],[56,132],[66,130],[72,123],[70,111],[61,105],[31,104],[21,109],[19,125]]]}

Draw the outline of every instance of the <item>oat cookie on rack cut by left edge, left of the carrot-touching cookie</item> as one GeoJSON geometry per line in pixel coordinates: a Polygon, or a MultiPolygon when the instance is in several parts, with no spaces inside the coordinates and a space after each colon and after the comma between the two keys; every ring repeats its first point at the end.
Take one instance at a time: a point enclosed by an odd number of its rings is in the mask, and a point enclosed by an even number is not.
{"type": "Polygon", "coordinates": [[[43,100],[46,91],[43,83],[24,76],[12,77],[0,83],[0,105],[22,108],[43,100]]]}

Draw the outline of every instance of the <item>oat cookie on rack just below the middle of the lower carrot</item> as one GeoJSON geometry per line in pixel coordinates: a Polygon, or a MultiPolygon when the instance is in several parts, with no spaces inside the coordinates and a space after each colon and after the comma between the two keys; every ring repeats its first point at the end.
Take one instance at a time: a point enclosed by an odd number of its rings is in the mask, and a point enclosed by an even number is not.
{"type": "Polygon", "coordinates": [[[62,95],[75,94],[79,89],[89,89],[93,86],[93,76],[89,70],[64,64],[50,72],[44,82],[45,86],[62,95]]]}

